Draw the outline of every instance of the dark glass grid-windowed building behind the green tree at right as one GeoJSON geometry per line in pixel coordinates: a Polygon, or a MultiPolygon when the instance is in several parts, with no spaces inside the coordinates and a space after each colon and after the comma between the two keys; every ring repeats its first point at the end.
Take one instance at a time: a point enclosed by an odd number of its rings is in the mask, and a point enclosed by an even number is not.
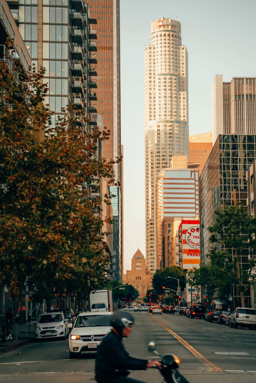
{"type": "Polygon", "coordinates": [[[246,171],[256,159],[256,135],[219,135],[200,176],[201,264],[210,251],[214,211],[241,201],[247,206],[246,171]]]}

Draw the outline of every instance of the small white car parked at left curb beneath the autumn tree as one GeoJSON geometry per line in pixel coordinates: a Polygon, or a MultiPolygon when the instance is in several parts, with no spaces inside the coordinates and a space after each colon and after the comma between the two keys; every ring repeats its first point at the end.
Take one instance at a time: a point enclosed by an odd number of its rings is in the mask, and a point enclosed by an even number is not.
{"type": "Polygon", "coordinates": [[[68,321],[68,319],[64,318],[64,315],[61,311],[41,314],[37,321],[34,322],[35,338],[42,339],[60,337],[62,339],[66,339],[69,334],[67,324],[68,321]]]}

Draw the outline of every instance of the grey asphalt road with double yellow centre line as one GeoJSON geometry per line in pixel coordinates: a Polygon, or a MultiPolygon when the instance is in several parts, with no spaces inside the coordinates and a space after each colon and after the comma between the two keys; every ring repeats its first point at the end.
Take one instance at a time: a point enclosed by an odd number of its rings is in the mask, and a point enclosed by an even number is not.
{"type": "MultiPolygon", "coordinates": [[[[178,314],[134,313],[135,326],[124,339],[134,357],[159,359],[147,351],[150,341],[160,354],[175,353],[190,383],[255,383],[256,331],[190,319],[178,314]]],[[[68,341],[35,342],[0,356],[0,382],[94,382],[94,355],[69,359],[68,341]]],[[[163,379],[156,369],[132,372],[147,383],[163,379]]]]}

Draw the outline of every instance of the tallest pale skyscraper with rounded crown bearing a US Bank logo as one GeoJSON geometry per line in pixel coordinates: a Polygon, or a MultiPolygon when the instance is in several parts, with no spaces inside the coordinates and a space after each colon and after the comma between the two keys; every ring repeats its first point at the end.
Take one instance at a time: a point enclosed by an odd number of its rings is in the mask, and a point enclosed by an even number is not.
{"type": "Polygon", "coordinates": [[[157,267],[156,181],[173,155],[188,155],[188,58],[181,24],[151,24],[144,54],[146,266],[157,267]]]}

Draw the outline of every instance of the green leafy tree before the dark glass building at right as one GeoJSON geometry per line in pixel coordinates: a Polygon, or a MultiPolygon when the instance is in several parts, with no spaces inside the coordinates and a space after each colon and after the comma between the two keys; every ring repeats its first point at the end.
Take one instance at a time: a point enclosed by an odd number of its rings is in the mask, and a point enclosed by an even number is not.
{"type": "Polygon", "coordinates": [[[208,254],[219,273],[218,286],[224,294],[230,283],[238,286],[241,305],[245,306],[245,291],[254,278],[256,261],[256,220],[241,204],[225,206],[215,211],[216,221],[208,227],[210,242],[215,246],[208,254]]]}

